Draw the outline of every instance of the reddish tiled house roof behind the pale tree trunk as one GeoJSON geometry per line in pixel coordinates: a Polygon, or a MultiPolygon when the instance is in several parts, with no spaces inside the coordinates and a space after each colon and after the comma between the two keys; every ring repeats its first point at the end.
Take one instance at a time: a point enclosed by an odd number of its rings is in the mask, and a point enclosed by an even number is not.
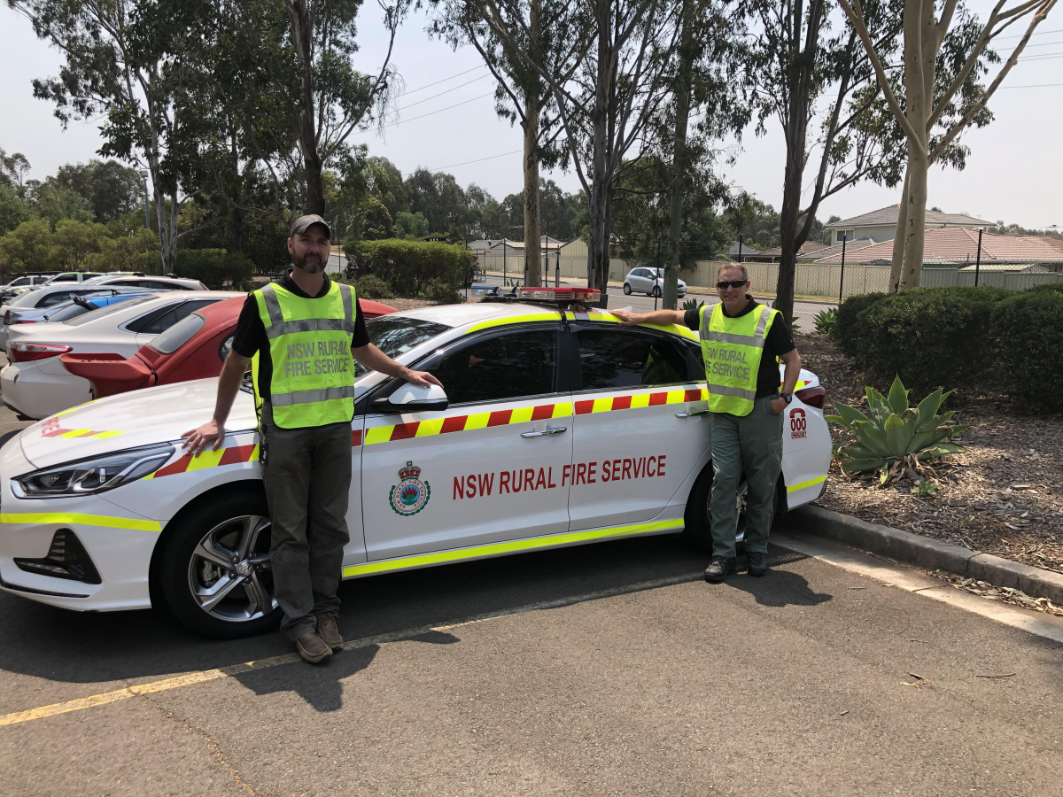
{"type": "MultiPolygon", "coordinates": [[[[939,227],[927,230],[923,244],[927,262],[974,264],[978,257],[978,231],[969,227],[939,227]]],[[[893,260],[893,241],[882,241],[864,247],[855,252],[846,251],[845,261],[850,264],[874,264],[893,260]]],[[[1044,236],[1035,235],[982,235],[981,261],[986,262],[1063,262],[1063,248],[1046,242],[1044,236]]],[[[841,252],[823,257],[819,264],[842,261],[841,252]]]]}

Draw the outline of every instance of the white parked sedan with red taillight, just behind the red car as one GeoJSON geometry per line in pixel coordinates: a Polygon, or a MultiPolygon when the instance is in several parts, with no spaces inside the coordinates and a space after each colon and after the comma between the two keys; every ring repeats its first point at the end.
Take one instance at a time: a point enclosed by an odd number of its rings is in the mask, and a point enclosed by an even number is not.
{"type": "Polygon", "coordinates": [[[11,364],[0,371],[0,395],[4,404],[29,418],[47,418],[84,404],[92,398],[89,381],[67,371],[61,354],[107,353],[125,359],[200,307],[238,295],[221,290],[166,291],[102,307],[62,323],[6,327],[11,330],[11,364]]]}

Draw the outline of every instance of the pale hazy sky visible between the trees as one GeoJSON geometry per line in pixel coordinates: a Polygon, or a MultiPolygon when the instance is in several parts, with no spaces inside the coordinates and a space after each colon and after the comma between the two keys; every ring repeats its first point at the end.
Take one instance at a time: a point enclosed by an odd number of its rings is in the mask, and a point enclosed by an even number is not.
{"type": "MultiPolygon", "coordinates": [[[[983,17],[990,6],[985,0],[971,5],[983,17]]],[[[364,6],[362,49],[355,64],[364,71],[378,68],[386,45],[375,11],[372,4],[364,6]]],[[[520,129],[495,116],[493,83],[478,54],[471,48],[452,51],[429,39],[424,27],[424,17],[416,16],[399,31],[393,63],[406,86],[398,101],[399,123],[383,137],[367,133],[352,140],[365,141],[370,154],[388,157],[404,175],[423,166],[451,172],[462,186],[477,183],[496,199],[519,191],[520,129]]],[[[967,168],[931,170],[929,205],[1027,227],[1063,226],[1063,12],[1049,15],[1040,31],[990,102],[996,120],[964,134],[972,150],[967,168]]],[[[1001,54],[1016,40],[1001,40],[1001,54]]],[[[29,20],[6,4],[0,6],[0,148],[23,153],[33,167],[31,176],[38,180],[62,164],[96,157],[101,143],[95,124],[73,122],[64,132],[51,105],[33,98],[31,81],[57,73],[60,64],[58,52],[35,37],[29,20]]],[[[724,168],[725,176],[778,209],[784,154],[777,122],[769,124],[762,138],[749,130],[737,163],[724,168]]],[[[574,173],[546,176],[566,190],[579,188],[574,173]]],[[[810,181],[807,175],[806,185],[810,181]]],[[[896,203],[899,193],[899,188],[862,183],[824,202],[820,218],[874,210],[896,203]]]]}

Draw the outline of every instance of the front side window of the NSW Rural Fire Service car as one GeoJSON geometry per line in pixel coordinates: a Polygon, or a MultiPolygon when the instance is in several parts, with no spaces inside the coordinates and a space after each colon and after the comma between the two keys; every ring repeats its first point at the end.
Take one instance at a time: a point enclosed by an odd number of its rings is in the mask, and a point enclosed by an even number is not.
{"type": "Polygon", "coordinates": [[[555,329],[497,335],[463,345],[427,370],[451,404],[505,402],[557,390],[555,329]]]}

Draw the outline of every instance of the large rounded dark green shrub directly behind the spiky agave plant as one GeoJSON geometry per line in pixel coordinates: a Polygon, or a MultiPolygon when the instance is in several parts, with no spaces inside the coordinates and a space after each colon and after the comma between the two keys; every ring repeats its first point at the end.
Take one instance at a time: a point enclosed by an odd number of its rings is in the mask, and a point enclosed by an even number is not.
{"type": "Polygon", "coordinates": [[[868,378],[918,393],[972,386],[990,370],[990,319],[1002,288],[913,288],[858,313],[855,358],[868,378]]]}

